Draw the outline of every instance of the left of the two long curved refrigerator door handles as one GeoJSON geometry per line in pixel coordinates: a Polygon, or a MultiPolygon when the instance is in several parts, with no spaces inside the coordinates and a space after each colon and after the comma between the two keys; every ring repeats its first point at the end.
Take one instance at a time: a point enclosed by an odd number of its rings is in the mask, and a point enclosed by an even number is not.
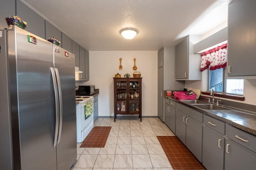
{"type": "Polygon", "coordinates": [[[58,130],[59,130],[59,100],[58,100],[59,95],[58,95],[58,87],[57,87],[54,68],[50,67],[50,69],[52,73],[52,82],[54,87],[54,101],[55,101],[55,133],[54,133],[53,147],[56,147],[57,139],[58,139],[58,130]]]}

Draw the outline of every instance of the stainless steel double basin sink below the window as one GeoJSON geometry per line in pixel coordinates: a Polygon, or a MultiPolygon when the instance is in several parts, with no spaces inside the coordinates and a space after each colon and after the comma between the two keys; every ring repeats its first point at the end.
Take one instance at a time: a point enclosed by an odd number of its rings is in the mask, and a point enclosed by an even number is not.
{"type": "Polygon", "coordinates": [[[180,100],[180,101],[187,103],[187,104],[191,104],[196,107],[199,107],[201,109],[206,109],[206,110],[228,110],[228,108],[226,108],[226,107],[209,104],[209,103],[203,102],[201,100],[180,100]]]}

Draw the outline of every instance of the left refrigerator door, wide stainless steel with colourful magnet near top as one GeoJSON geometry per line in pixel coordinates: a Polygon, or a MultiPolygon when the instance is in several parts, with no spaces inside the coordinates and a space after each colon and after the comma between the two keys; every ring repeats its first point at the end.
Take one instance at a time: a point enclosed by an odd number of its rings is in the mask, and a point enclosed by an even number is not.
{"type": "Polygon", "coordinates": [[[13,135],[17,136],[17,143],[20,142],[20,150],[14,150],[14,158],[20,158],[20,167],[17,169],[53,170],[57,165],[56,148],[53,148],[55,114],[50,73],[50,67],[53,67],[52,43],[18,27],[14,30],[15,41],[9,39],[9,44],[15,42],[16,48],[9,48],[9,57],[12,65],[10,85],[14,90],[11,102],[15,103],[12,107],[12,123],[17,127],[19,125],[19,135],[13,135]],[[37,45],[29,43],[27,35],[36,37],[37,45]]]}

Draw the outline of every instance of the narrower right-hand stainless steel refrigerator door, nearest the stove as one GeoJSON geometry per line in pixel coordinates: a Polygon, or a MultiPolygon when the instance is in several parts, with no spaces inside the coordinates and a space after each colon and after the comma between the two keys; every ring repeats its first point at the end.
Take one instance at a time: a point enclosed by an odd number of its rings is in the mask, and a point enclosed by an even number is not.
{"type": "Polygon", "coordinates": [[[58,86],[61,87],[59,96],[60,98],[62,96],[60,99],[57,166],[58,170],[64,170],[71,168],[77,156],[74,54],[54,45],[54,69],[58,86]]]}

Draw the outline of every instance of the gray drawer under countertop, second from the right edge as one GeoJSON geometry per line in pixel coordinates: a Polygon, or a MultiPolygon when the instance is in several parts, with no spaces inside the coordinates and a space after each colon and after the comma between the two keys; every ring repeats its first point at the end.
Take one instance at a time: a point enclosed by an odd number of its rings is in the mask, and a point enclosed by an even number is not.
{"type": "Polygon", "coordinates": [[[214,129],[215,131],[225,135],[225,123],[214,119],[210,116],[204,115],[204,125],[214,129]]]}

